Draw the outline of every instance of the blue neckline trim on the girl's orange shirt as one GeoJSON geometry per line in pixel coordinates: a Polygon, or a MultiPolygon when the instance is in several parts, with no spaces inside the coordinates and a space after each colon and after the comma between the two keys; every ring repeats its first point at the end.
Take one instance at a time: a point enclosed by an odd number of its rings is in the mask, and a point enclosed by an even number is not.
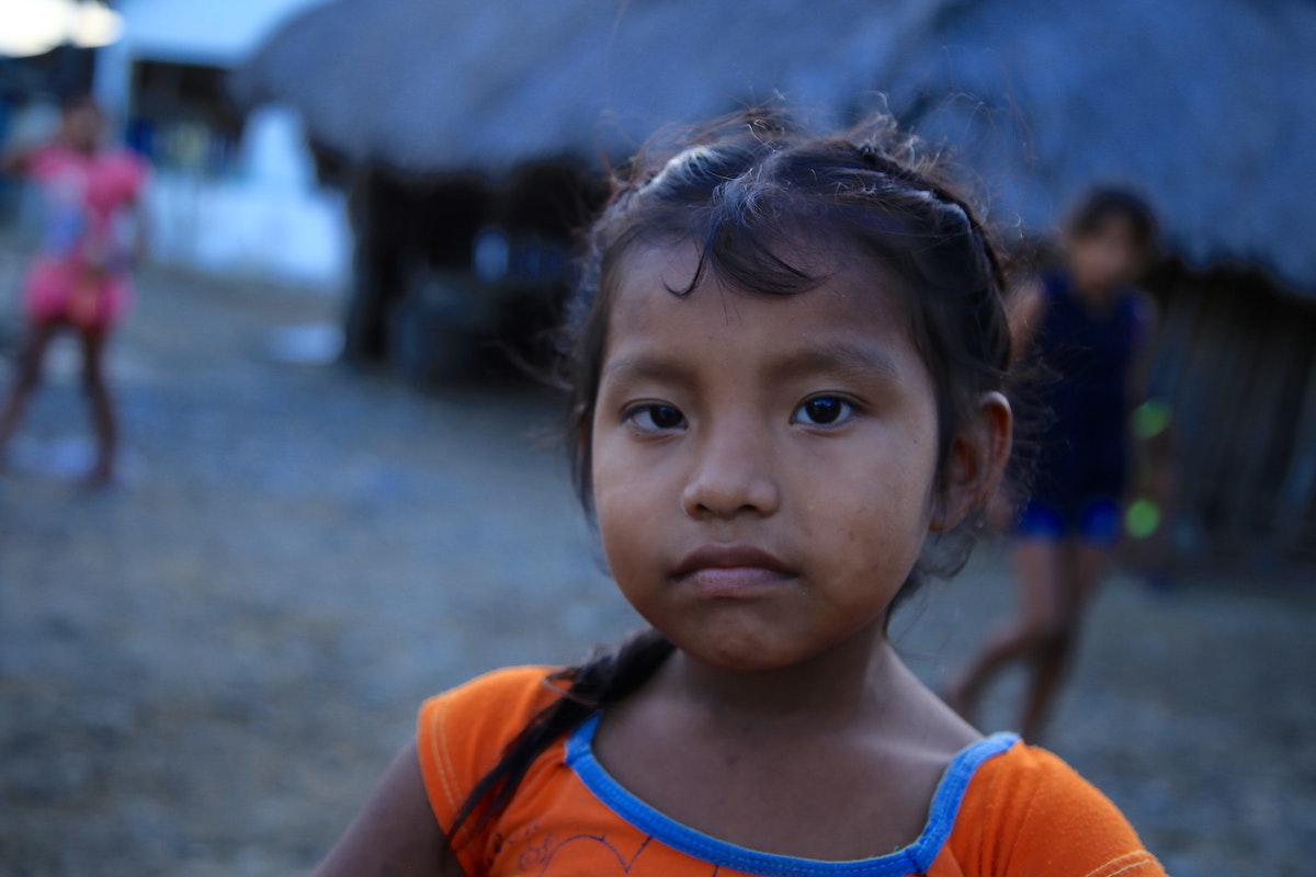
{"type": "Polygon", "coordinates": [[[688,828],[665,817],[630,794],[594,757],[594,735],[599,728],[599,714],[586,719],[566,742],[566,763],[576,776],[613,813],[655,840],[720,868],[730,868],[763,877],[904,877],[921,874],[932,866],[959,811],[959,802],[974,772],[983,761],[1009,749],[1019,740],[1017,734],[994,734],[962,749],[946,767],[932,798],[928,823],[923,834],[909,847],[878,859],[855,861],[822,861],[795,859],[737,847],[700,831],[688,828]]]}

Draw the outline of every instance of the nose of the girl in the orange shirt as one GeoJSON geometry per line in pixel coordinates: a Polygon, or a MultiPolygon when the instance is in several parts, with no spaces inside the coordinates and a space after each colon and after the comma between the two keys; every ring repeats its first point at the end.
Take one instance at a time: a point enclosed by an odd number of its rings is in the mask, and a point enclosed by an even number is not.
{"type": "Polygon", "coordinates": [[[744,431],[708,435],[697,447],[697,460],[680,494],[691,518],[767,517],[780,505],[770,442],[744,431]]]}

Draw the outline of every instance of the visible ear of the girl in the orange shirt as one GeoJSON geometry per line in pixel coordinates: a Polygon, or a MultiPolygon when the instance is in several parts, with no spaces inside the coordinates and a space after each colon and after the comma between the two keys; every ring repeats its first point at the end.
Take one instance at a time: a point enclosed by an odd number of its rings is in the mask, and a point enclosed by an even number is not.
{"type": "Polygon", "coordinates": [[[1013,414],[1000,393],[983,393],[973,418],[950,444],[937,506],[928,529],[954,530],[975,509],[986,505],[1005,472],[1013,414]]]}

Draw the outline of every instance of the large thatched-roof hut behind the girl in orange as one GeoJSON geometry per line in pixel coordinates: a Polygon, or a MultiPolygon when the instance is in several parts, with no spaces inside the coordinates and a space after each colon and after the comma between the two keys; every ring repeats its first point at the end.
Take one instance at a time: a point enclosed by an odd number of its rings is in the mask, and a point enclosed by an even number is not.
{"type": "Polygon", "coordinates": [[[490,308],[558,291],[604,164],[755,101],[820,125],[888,109],[974,168],[1020,242],[1094,181],[1132,185],[1167,242],[1153,387],[1191,473],[1179,538],[1312,554],[1311,45],[1299,0],[337,0],[274,33],[234,93],[296,108],[349,192],[347,355],[421,373],[449,363],[424,362],[417,327],[465,358],[490,308]]]}

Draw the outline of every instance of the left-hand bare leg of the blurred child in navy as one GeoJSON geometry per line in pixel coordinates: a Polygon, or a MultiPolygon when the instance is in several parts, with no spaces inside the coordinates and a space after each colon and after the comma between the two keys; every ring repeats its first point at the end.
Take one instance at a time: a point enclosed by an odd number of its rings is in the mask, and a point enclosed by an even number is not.
{"type": "Polygon", "coordinates": [[[1045,650],[1062,622],[1062,552],[1054,539],[1021,539],[1013,551],[1020,617],[998,631],[948,692],[950,706],[973,721],[983,688],[1007,664],[1045,650]]]}

